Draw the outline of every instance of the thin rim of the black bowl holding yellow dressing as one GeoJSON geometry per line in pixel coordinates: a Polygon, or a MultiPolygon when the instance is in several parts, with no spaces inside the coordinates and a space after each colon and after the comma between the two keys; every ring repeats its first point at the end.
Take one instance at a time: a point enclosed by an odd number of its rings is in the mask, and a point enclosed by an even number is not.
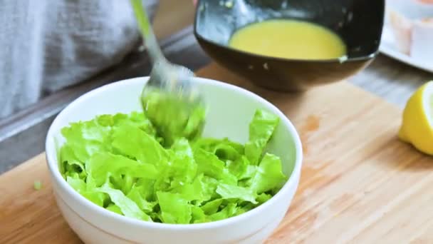
{"type": "MultiPolygon", "coordinates": [[[[342,56],[340,58],[337,59],[286,59],[286,58],[281,58],[281,57],[275,57],[275,56],[266,56],[266,55],[261,55],[261,54],[254,54],[248,51],[243,51],[243,50],[238,50],[238,49],[234,49],[231,46],[228,45],[222,45],[217,43],[216,41],[212,40],[212,39],[207,39],[204,36],[202,36],[202,34],[199,33],[199,31],[197,31],[197,22],[198,22],[198,16],[199,16],[199,11],[198,8],[200,6],[202,0],[198,0],[197,4],[196,4],[196,8],[197,10],[195,11],[194,14],[194,23],[193,23],[193,33],[194,36],[196,37],[197,41],[204,41],[207,42],[208,44],[212,44],[214,46],[218,46],[221,49],[228,49],[229,51],[232,51],[234,53],[238,53],[238,54],[243,54],[243,55],[248,55],[248,56],[252,56],[254,58],[259,58],[259,59],[268,59],[270,61],[286,61],[286,62],[303,62],[303,63],[346,63],[346,62],[355,62],[355,61],[368,61],[371,59],[375,59],[375,57],[377,57],[380,54],[380,43],[382,42],[382,33],[383,33],[383,29],[384,29],[384,23],[385,23],[385,0],[380,0],[382,1],[382,5],[383,5],[383,13],[382,13],[382,20],[380,21],[381,27],[380,27],[380,35],[377,38],[377,46],[375,51],[373,51],[371,54],[367,54],[364,56],[359,56],[359,57],[354,57],[354,58],[349,58],[347,55],[342,56]],[[344,57],[346,57],[347,59],[344,59],[344,57]]],[[[280,18],[280,19],[287,19],[287,18],[280,18]]]]}

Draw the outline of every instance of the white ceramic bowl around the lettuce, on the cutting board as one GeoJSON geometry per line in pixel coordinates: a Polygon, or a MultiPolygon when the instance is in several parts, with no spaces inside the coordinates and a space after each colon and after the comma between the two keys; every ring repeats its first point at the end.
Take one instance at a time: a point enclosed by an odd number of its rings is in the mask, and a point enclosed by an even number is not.
{"type": "Polygon", "coordinates": [[[302,147],[288,118],[268,101],[237,86],[194,78],[209,106],[204,136],[228,137],[245,143],[257,108],[281,118],[269,151],[280,156],[283,171],[291,173],[283,188],[263,205],[233,218],[212,223],[172,225],[127,218],[91,203],[75,192],[58,171],[56,143],[64,142],[61,128],[102,113],[140,111],[139,95],[146,78],[110,83],[90,91],[67,106],[53,121],[46,138],[46,157],[58,207],[85,243],[262,243],[283,219],[298,188],[302,147]],[[55,139],[56,138],[56,139],[55,139]]]}

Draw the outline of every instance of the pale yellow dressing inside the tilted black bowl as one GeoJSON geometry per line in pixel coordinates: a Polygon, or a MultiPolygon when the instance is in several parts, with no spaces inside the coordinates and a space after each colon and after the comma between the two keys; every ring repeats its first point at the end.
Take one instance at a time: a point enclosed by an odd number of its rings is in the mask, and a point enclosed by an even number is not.
{"type": "Polygon", "coordinates": [[[268,20],[239,29],[229,46],[241,51],[286,59],[338,59],[346,54],[333,31],[306,21],[268,20]]]}

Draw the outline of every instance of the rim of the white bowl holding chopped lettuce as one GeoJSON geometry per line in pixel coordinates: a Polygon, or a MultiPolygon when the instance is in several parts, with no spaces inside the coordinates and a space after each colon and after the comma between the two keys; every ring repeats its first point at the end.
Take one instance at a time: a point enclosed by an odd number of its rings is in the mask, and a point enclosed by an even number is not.
{"type": "MultiPolygon", "coordinates": [[[[61,188],[61,191],[63,193],[66,193],[71,196],[74,200],[78,201],[81,205],[84,206],[84,208],[90,209],[93,213],[97,215],[102,215],[105,218],[110,218],[111,220],[114,220],[117,223],[124,223],[126,225],[135,225],[136,227],[140,228],[152,228],[152,229],[158,229],[158,230],[171,230],[171,231],[184,231],[184,230],[209,230],[213,228],[220,228],[224,225],[233,225],[236,223],[242,223],[243,221],[251,218],[251,216],[257,215],[262,210],[268,208],[269,206],[275,204],[278,200],[281,200],[283,198],[283,195],[285,192],[290,190],[291,188],[295,187],[295,193],[297,190],[296,185],[296,176],[301,174],[301,166],[303,161],[303,150],[302,150],[302,144],[301,144],[301,138],[298,135],[298,132],[296,131],[295,126],[289,121],[289,119],[282,113],[276,106],[274,106],[271,102],[266,101],[266,99],[262,98],[261,96],[257,95],[256,93],[253,93],[251,91],[248,91],[244,88],[241,88],[239,86],[234,86],[229,83],[224,83],[221,81],[215,81],[209,78],[201,78],[201,77],[195,77],[194,81],[197,83],[204,83],[205,85],[211,85],[211,86],[219,86],[224,87],[228,89],[234,89],[237,90],[239,93],[243,93],[245,96],[252,96],[256,100],[260,101],[261,103],[266,104],[268,108],[271,108],[273,110],[273,113],[276,113],[278,117],[281,118],[281,122],[283,123],[286,128],[288,128],[289,133],[291,133],[291,136],[293,136],[293,142],[295,145],[295,165],[293,167],[293,170],[291,172],[291,176],[289,176],[288,181],[284,183],[283,187],[278,190],[278,193],[273,195],[272,198],[266,201],[266,203],[263,203],[259,205],[258,207],[251,209],[245,213],[241,213],[240,215],[236,215],[231,218],[226,218],[224,220],[216,220],[209,223],[194,223],[194,224],[171,224],[171,223],[155,223],[155,222],[147,222],[144,220],[137,220],[134,218],[129,218],[124,215],[119,215],[118,213],[113,213],[110,210],[106,210],[105,208],[101,208],[100,206],[96,205],[95,203],[92,203],[87,198],[83,197],[83,195],[80,195],[76,190],[74,190],[71,185],[69,185],[63,176],[61,176],[61,173],[58,168],[58,159],[57,159],[57,151],[56,151],[56,139],[54,137],[54,128],[60,127],[57,126],[58,123],[60,123],[63,120],[63,116],[68,114],[68,111],[75,107],[80,105],[81,101],[85,100],[86,98],[90,98],[98,93],[103,93],[104,91],[108,89],[113,89],[115,87],[121,87],[121,86],[128,86],[132,83],[144,83],[147,82],[149,76],[142,76],[142,77],[136,77],[136,78],[127,78],[120,81],[115,81],[113,83],[106,84],[104,86],[100,86],[99,88],[95,88],[91,91],[88,91],[87,93],[84,93],[80,97],[76,98],[74,101],[68,104],[63,110],[58,113],[56,118],[51,123],[51,126],[48,128],[48,133],[46,136],[46,159],[47,159],[47,166],[48,170],[50,171],[50,178],[51,182],[53,184],[58,185],[61,188]]],[[[61,195],[59,195],[61,197],[61,195]]],[[[62,198],[63,199],[63,198],[62,198]]],[[[82,216],[83,217],[83,216],[82,216]]],[[[83,217],[85,218],[85,217],[83,217]]],[[[85,218],[87,219],[87,218],[85,218]]]]}

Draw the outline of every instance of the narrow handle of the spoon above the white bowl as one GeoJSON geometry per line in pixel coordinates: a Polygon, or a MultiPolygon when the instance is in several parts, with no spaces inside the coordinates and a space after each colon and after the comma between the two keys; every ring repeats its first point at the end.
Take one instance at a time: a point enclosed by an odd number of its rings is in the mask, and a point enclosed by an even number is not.
{"type": "Polygon", "coordinates": [[[141,31],[147,52],[150,55],[153,63],[161,63],[165,61],[165,57],[162,54],[160,46],[158,45],[157,38],[150,24],[149,17],[145,6],[142,5],[142,0],[130,0],[132,9],[134,10],[135,19],[137,19],[138,27],[141,31]]]}

